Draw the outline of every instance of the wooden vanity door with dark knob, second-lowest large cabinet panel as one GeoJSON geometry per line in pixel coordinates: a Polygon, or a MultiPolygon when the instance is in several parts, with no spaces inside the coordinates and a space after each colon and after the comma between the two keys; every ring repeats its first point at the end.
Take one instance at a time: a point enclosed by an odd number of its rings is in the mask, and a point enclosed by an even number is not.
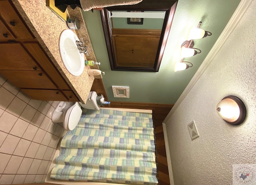
{"type": "Polygon", "coordinates": [[[18,88],[56,89],[42,71],[0,70],[0,74],[18,88]]]}

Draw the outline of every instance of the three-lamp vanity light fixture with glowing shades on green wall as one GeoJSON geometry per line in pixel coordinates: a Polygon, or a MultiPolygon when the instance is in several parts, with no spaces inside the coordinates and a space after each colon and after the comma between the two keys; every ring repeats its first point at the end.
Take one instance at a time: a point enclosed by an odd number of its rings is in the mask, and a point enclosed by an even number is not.
{"type": "Polygon", "coordinates": [[[208,31],[204,31],[202,29],[200,29],[200,25],[202,24],[202,22],[200,21],[197,28],[195,28],[194,26],[192,26],[192,28],[190,28],[190,31],[188,33],[188,40],[184,41],[181,45],[181,50],[180,50],[180,62],[176,62],[174,64],[174,72],[176,71],[181,71],[181,70],[186,70],[190,67],[193,66],[193,64],[191,62],[186,62],[183,61],[184,58],[186,57],[191,57],[191,56],[195,56],[196,54],[201,53],[201,50],[198,48],[193,48],[194,46],[194,39],[200,39],[200,38],[205,38],[206,36],[211,36],[212,33],[208,32],[208,31]],[[185,63],[189,63],[190,66],[188,64],[185,63]]]}

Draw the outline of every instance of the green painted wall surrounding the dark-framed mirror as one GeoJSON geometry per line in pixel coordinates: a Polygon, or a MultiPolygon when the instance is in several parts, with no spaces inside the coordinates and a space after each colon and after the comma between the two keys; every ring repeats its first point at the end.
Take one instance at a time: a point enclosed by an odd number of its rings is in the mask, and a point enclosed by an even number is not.
{"type": "Polygon", "coordinates": [[[101,62],[100,70],[105,72],[103,83],[108,99],[175,103],[220,36],[239,2],[240,0],[179,0],[159,72],[112,71],[99,11],[82,12],[96,59],[101,62]],[[199,21],[202,21],[200,28],[212,32],[212,36],[194,40],[194,47],[200,48],[202,53],[186,58],[186,61],[194,64],[192,68],[174,72],[174,63],[180,60],[180,45],[186,40],[190,27],[197,26],[199,21]],[[112,86],[129,86],[130,98],[114,98],[112,86]]]}

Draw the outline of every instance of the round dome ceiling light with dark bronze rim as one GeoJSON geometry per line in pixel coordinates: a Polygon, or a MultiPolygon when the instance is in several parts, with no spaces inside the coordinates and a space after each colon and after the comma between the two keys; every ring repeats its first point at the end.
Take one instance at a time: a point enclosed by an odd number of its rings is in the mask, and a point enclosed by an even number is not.
{"type": "Polygon", "coordinates": [[[217,105],[217,112],[224,121],[231,125],[240,125],[246,117],[246,108],[236,96],[226,96],[217,105]]]}

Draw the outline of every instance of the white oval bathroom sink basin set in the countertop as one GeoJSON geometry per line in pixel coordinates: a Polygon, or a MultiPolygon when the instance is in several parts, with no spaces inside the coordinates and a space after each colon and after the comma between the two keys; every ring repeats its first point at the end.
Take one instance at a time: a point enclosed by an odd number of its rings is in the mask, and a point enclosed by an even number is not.
{"type": "Polygon", "coordinates": [[[84,54],[80,53],[76,40],[78,37],[71,30],[63,30],[60,34],[60,56],[65,68],[74,76],[79,76],[84,70],[84,54]]]}

